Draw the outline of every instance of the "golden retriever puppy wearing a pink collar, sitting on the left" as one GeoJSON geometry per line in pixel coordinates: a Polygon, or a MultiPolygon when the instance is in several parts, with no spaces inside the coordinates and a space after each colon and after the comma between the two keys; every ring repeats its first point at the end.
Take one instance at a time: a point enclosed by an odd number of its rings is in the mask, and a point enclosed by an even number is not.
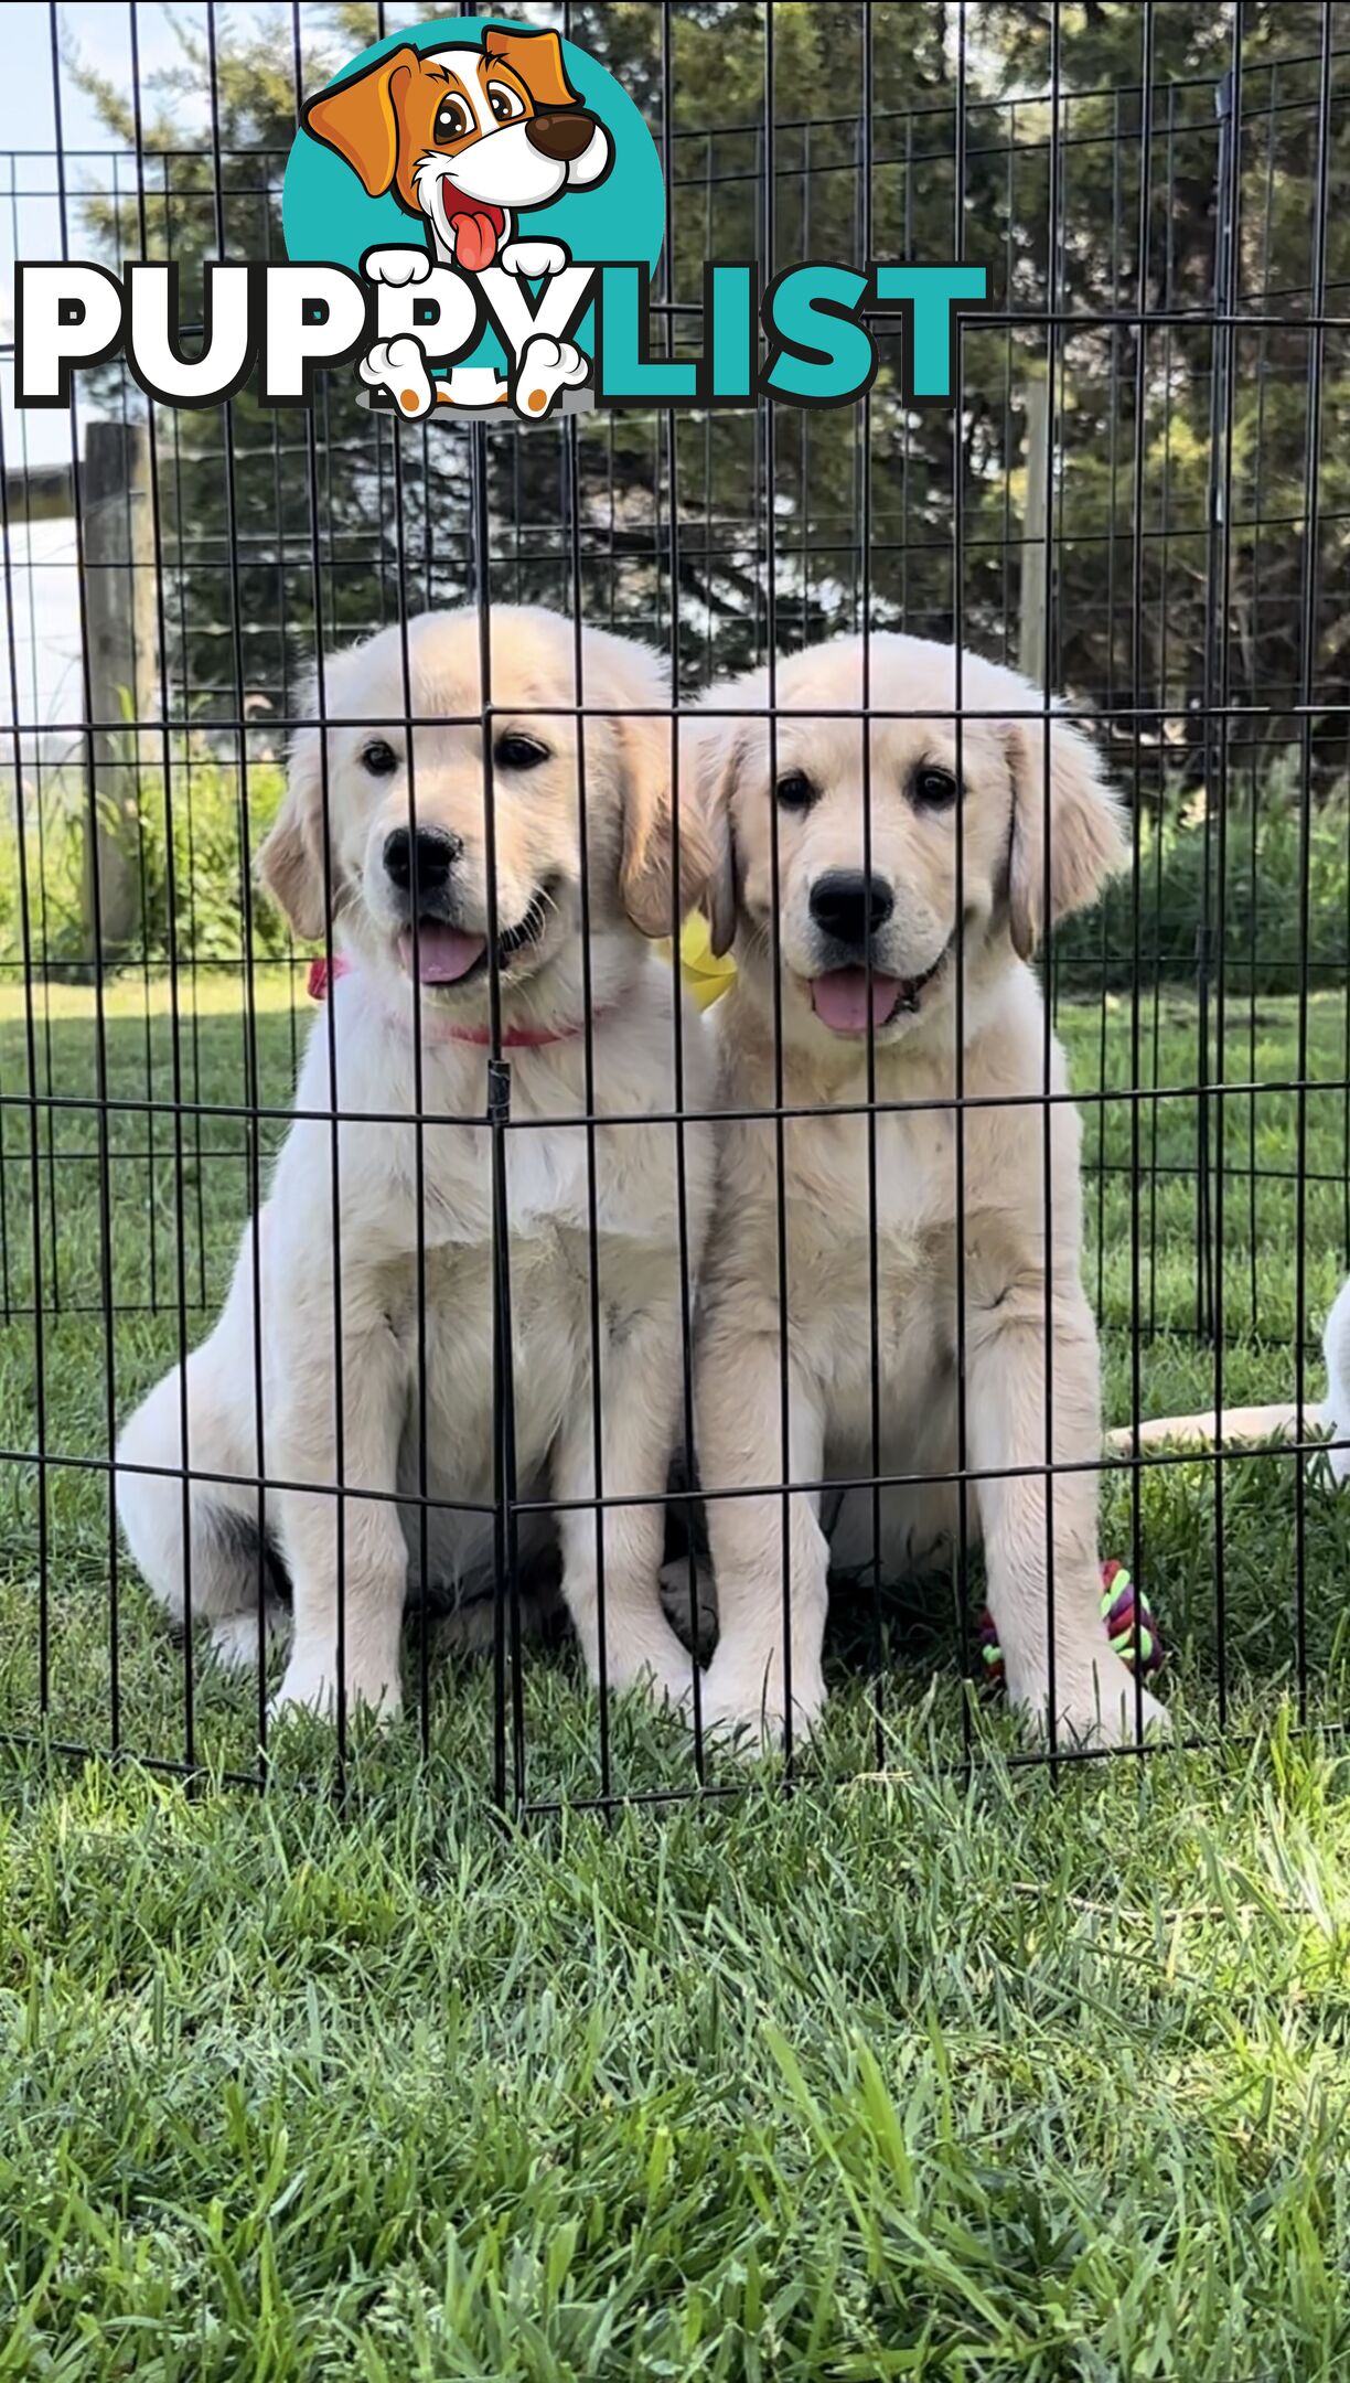
{"type": "MultiPolygon", "coordinates": [[[[331,1709],[340,1668],[355,1704],[398,1711],[410,1556],[464,1604],[493,1582],[502,1411],[507,1487],[560,1501],[590,1678],[688,1690],[660,1606],[660,1499],[714,1151],[712,1130],[686,1132],[681,1258],[676,1127],[657,1115],[676,1041],[702,1110],[712,1053],[648,939],[702,891],[710,855],[690,815],[674,884],[662,665],[586,629],[579,674],[574,639],[552,612],[495,608],[488,689],[476,612],[410,622],[407,689],[400,629],[336,655],[329,724],[298,734],[260,855],[298,934],[321,937],[331,908],[340,965],[257,1218],[257,1287],[250,1227],[217,1330],[129,1423],[117,1494],[145,1580],[174,1616],[190,1599],[226,1659],[257,1644],[260,1563],[288,1582],[281,1706],[331,1709]],[[576,703],[598,708],[583,736],[576,703]],[[486,1122],[490,939],[502,1134],[486,1122]],[[588,1110],[593,1137],[574,1122],[588,1110]],[[276,1485],[262,1499],[260,1475],[276,1485]],[[595,1511],[567,1504],[598,1489],[648,1501],[605,1506],[602,1549],[595,1511]]],[[[524,1561],[548,1537],[543,1516],[519,1518],[524,1561]]]]}

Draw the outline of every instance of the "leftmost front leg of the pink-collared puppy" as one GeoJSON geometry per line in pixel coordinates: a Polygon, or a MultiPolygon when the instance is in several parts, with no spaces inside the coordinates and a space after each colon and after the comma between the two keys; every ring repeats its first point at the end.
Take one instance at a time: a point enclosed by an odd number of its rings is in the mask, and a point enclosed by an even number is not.
{"type": "Polygon", "coordinates": [[[314,1487],[274,1489],[269,1497],[295,1609],[295,1640],[276,1711],[336,1711],[340,1675],[350,1704],[371,1706],[393,1721],[402,1701],[398,1649],[407,1592],[407,1544],[393,1489],[407,1365],[379,1301],[352,1299],[345,1289],[343,1306],[340,1477],[352,1485],[345,1494],[336,1489],[331,1304],[295,1299],[279,1351],[281,1380],[267,1468],[283,1482],[314,1487]],[[357,1489],[386,1494],[357,1497],[357,1489]]]}

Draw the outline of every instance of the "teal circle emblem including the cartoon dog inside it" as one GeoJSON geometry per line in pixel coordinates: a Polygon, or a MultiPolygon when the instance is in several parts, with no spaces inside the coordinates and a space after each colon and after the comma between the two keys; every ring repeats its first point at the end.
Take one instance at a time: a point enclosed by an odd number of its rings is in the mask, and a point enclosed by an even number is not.
{"type": "Polygon", "coordinates": [[[405,417],[586,403],[595,310],[569,267],[655,272],[664,217],[662,162],[621,83],[574,41],[495,17],[443,17],[352,57],[305,100],[281,193],[293,265],[374,284],[357,374],[405,417]]]}

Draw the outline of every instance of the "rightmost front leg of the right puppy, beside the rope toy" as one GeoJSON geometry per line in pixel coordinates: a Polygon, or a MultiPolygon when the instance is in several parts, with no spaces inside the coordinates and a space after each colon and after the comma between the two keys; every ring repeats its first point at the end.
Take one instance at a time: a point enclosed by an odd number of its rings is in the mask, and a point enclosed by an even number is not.
{"type": "MultiPolygon", "coordinates": [[[[1100,1389],[1098,1334],[1076,1282],[1055,1287],[1055,1473],[1045,1508],[1045,1284],[1024,1277],[967,1318],[969,1454],[988,1563],[988,1604],[1002,1647],[1007,1694],[1033,1721],[1050,1713],[1050,1597],[1055,1566],[1055,1725],[1079,1742],[1136,1735],[1133,1673],[1107,1644],[1098,1563],[1100,1389]],[[1026,1468],[1026,1470],[1017,1470],[1026,1468]],[[1002,1475],[1002,1477],[1000,1477],[1002,1475]]],[[[1143,1723],[1167,1723],[1143,1692],[1143,1723]]]]}

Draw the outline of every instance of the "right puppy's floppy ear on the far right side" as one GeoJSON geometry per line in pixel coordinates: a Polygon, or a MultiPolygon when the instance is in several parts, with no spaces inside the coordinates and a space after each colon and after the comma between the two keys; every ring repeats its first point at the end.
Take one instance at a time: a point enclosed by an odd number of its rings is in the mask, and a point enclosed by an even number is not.
{"type": "Polygon", "coordinates": [[[1012,777],[1012,836],[1007,848],[1007,929],[1019,960],[1029,960],[1048,927],[1083,910],[1121,867],[1121,810],[1102,763],[1081,729],[1060,713],[1045,727],[1012,720],[1005,729],[1012,777]],[[1050,801],[1045,801],[1045,739],[1050,739],[1050,801]],[[1050,855],[1045,855],[1050,817],[1050,855]],[[1050,915],[1045,917],[1045,894],[1050,915]]]}

